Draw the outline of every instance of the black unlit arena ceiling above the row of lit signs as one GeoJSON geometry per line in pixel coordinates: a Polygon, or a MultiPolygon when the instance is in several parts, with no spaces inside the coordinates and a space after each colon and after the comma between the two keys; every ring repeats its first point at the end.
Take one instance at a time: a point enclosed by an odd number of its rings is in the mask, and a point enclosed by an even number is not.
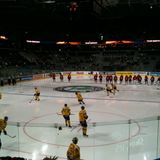
{"type": "Polygon", "coordinates": [[[157,33],[159,18],[160,0],[0,0],[1,32],[157,33]]]}

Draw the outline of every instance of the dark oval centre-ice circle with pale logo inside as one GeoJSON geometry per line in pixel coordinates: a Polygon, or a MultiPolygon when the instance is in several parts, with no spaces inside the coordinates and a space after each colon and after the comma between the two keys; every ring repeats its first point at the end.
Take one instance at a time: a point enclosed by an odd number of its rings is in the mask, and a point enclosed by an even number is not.
{"type": "Polygon", "coordinates": [[[77,86],[62,86],[54,88],[56,91],[60,92],[97,92],[104,90],[103,87],[99,86],[85,86],[85,85],[77,85],[77,86]]]}

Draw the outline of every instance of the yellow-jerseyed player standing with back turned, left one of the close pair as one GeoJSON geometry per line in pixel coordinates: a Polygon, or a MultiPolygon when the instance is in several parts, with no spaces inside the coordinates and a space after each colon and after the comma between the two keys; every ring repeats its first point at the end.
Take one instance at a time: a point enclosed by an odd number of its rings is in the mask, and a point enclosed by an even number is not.
{"type": "Polygon", "coordinates": [[[67,104],[64,104],[64,107],[62,108],[61,113],[65,119],[66,126],[71,127],[71,122],[70,122],[71,110],[67,104]]]}

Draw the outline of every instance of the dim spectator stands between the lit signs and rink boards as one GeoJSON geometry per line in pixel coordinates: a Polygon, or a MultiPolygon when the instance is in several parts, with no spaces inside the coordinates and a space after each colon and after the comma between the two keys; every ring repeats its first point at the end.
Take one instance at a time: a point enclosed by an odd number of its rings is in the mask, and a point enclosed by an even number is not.
{"type": "Polygon", "coordinates": [[[160,71],[159,45],[27,44],[23,50],[0,48],[0,51],[0,75],[6,77],[11,73],[23,75],[49,70],[160,71]]]}

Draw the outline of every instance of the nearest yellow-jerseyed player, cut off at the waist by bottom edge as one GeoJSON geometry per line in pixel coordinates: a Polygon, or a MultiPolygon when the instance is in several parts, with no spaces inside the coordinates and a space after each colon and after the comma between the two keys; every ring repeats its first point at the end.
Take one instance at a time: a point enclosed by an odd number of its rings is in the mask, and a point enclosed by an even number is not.
{"type": "Polygon", "coordinates": [[[80,160],[80,147],[77,143],[78,138],[74,137],[67,150],[67,160],[80,160]]]}

